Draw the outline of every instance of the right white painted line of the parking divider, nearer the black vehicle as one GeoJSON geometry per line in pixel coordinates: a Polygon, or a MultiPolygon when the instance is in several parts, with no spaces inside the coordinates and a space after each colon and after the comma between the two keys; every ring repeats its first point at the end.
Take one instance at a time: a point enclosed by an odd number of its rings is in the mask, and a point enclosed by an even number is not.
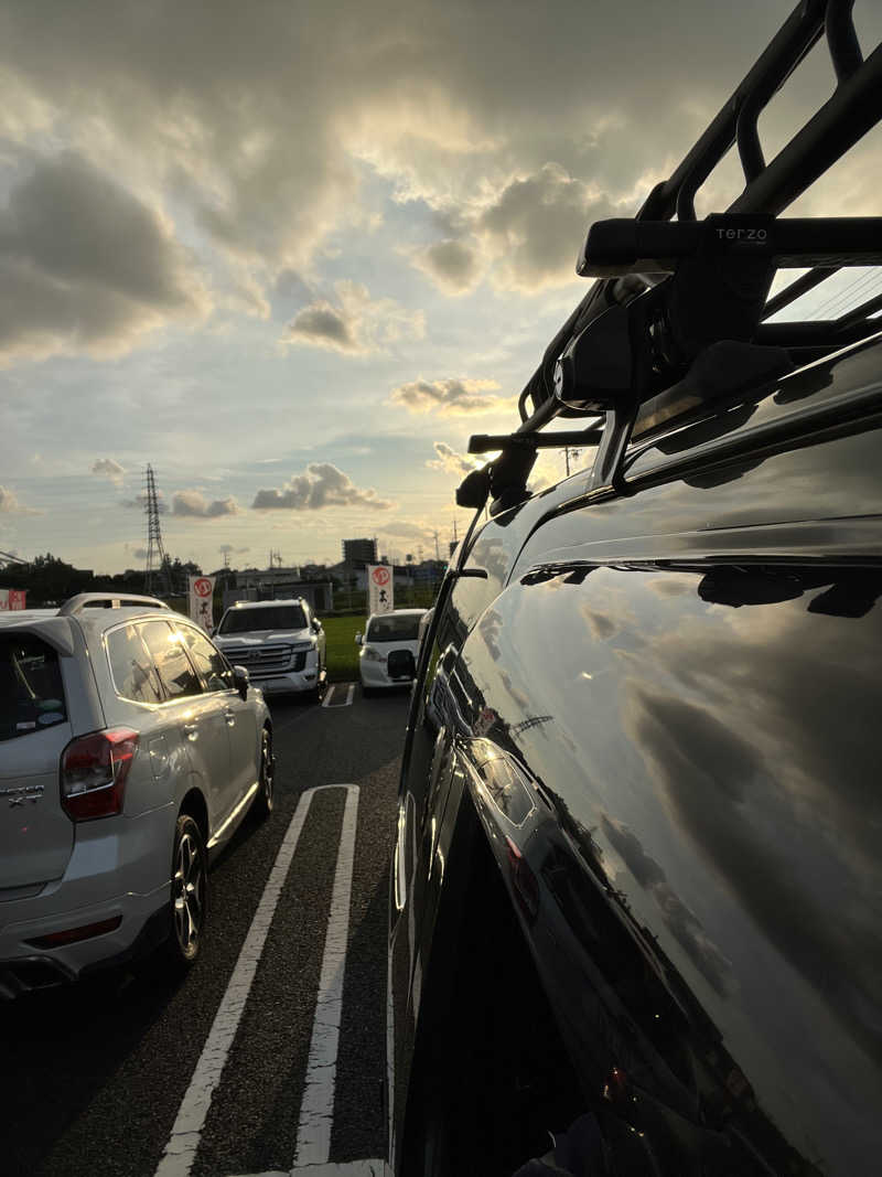
{"type": "MultiPolygon", "coordinates": [[[[353,687],[350,686],[352,691],[353,687]]],[[[330,1155],[330,1128],[334,1123],[334,1090],[336,1057],[340,1045],[340,1020],[343,1011],[343,976],[346,949],[349,939],[349,902],[355,863],[355,830],[359,812],[359,790],[347,791],[343,825],[334,873],[325,955],[315,1000],[315,1020],[306,1064],[306,1084],[300,1105],[298,1144],[294,1170],[300,1166],[327,1165],[330,1155]]]]}

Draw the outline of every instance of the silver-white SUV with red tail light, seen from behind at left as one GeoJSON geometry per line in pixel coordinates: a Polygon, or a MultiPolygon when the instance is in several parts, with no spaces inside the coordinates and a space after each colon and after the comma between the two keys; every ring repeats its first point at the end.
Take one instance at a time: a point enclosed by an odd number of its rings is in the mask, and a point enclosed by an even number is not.
{"type": "Polygon", "coordinates": [[[209,857],[273,772],[261,692],[161,601],[0,614],[0,996],[160,943],[191,964],[209,857]]]}

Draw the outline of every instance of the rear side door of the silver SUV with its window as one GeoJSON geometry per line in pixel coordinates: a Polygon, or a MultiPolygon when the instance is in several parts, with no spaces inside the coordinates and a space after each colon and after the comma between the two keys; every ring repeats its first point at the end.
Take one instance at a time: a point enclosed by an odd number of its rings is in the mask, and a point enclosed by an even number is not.
{"type": "Polygon", "coordinates": [[[182,636],[169,621],[159,618],[142,621],[141,636],[159,672],[167,700],[165,707],[179,724],[191,770],[206,796],[212,817],[211,840],[235,804],[222,694],[203,690],[182,636]]]}

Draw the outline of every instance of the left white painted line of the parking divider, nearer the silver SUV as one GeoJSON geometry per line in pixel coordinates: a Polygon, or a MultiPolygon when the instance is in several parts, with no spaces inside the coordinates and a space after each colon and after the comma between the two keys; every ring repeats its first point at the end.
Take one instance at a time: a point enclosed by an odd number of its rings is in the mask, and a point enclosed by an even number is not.
{"type": "MultiPolygon", "coordinates": [[[[156,1177],[188,1177],[189,1171],[193,1168],[196,1149],[199,1148],[199,1142],[202,1136],[202,1129],[205,1128],[206,1117],[208,1116],[208,1109],[212,1105],[212,1097],[214,1096],[214,1091],[220,1083],[221,1073],[227,1062],[227,1055],[229,1053],[236,1030],[239,1029],[239,1022],[242,1017],[242,1011],[245,1010],[245,1004],[254,982],[254,975],[263,952],[263,945],[266,944],[267,935],[269,932],[269,925],[273,922],[273,915],[275,913],[279,898],[281,897],[282,887],[288,876],[292,859],[294,858],[294,851],[298,849],[298,842],[300,840],[303,823],[306,822],[307,813],[309,812],[309,805],[316,793],[322,792],[328,787],[345,787],[348,790],[346,802],[347,813],[349,812],[350,804],[353,807],[358,805],[359,790],[355,785],[320,785],[318,789],[309,789],[301,794],[300,800],[298,802],[298,807],[294,811],[294,817],[290,819],[285,838],[282,839],[282,844],[279,847],[275,864],[273,865],[273,870],[267,879],[267,885],[263,889],[263,895],[261,896],[258,910],[252,919],[248,935],[246,936],[245,943],[239,952],[239,959],[233,969],[226,992],[223,993],[218,1012],[214,1016],[212,1029],[208,1032],[208,1038],[206,1039],[202,1053],[196,1063],[193,1078],[189,1082],[187,1092],[181,1102],[181,1106],[178,1110],[178,1117],[174,1122],[174,1126],[172,1128],[172,1135],[168,1138],[165,1152],[162,1153],[156,1169],[156,1177]],[[352,802],[353,793],[355,797],[354,802],[352,802]]],[[[343,817],[343,827],[346,829],[346,816],[343,817]]],[[[340,859],[338,859],[338,871],[339,870],[340,859]]],[[[352,863],[349,863],[349,877],[352,878],[352,863]]],[[[336,893],[336,882],[334,885],[336,893]]],[[[328,939],[330,939],[330,929],[328,929],[328,939]]],[[[340,960],[341,977],[345,957],[346,943],[343,940],[343,957],[340,960]]],[[[322,978],[323,976],[325,973],[322,966],[322,978]]],[[[327,1157],[325,1159],[327,1159],[327,1157]]]]}

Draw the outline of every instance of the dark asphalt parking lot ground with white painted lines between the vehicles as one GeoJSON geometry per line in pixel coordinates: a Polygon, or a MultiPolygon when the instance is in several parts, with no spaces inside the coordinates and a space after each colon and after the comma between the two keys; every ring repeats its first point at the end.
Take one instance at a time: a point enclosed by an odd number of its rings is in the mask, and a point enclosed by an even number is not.
{"type": "Polygon", "coordinates": [[[183,982],[143,963],[0,1005],[5,1175],[241,1177],[385,1157],[408,696],[336,684],[325,704],[272,704],[275,811],[214,865],[183,982]]]}

